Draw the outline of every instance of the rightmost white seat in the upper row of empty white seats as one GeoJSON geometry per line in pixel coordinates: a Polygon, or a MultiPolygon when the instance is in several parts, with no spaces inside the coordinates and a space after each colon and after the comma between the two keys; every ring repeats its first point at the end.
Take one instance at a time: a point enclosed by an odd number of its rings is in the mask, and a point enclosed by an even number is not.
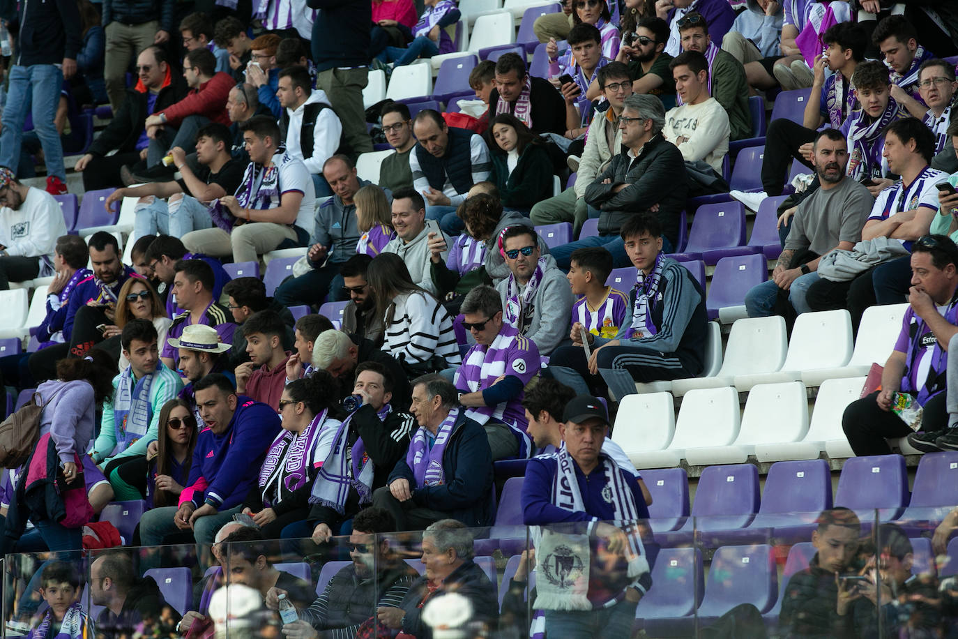
{"type": "Polygon", "coordinates": [[[907,304],[895,304],[883,307],[869,307],[861,316],[858,335],[855,338],[855,352],[846,366],[820,368],[802,372],[802,381],[806,386],[821,386],[832,377],[859,377],[868,375],[873,363],[885,365],[888,355],[895,348],[895,341],[901,332],[901,319],[907,304]]]}

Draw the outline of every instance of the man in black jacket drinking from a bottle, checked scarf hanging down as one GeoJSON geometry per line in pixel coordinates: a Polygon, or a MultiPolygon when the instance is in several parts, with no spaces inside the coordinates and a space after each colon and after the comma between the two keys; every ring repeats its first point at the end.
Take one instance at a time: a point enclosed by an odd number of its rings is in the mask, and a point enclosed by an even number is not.
{"type": "Polygon", "coordinates": [[[390,405],[392,389],[393,380],[381,364],[365,362],[356,367],[352,393],[362,405],[326,439],[319,477],[309,495],[308,528],[302,532],[298,527],[287,528],[285,536],[295,530],[295,536],[328,541],[345,520],[369,505],[373,491],[386,486],[390,472],[405,457],[415,429],[411,415],[390,405]]]}

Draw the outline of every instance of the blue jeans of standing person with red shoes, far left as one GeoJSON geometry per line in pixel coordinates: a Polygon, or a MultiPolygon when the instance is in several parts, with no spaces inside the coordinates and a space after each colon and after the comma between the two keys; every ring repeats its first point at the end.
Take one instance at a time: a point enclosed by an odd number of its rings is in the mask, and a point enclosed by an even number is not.
{"type": "Polygon", "coordinates": [[[57,115],[63,73],[53,64],[14,65],[10,70],[7,106],[0,131],[0,165],[15,169],[20,160],[23,123],[27,109],[34,116],[34,130],[43,147],[47,174],[66,180],[63,167],[63,146],[60,144],[54,117],[57,115]]]}

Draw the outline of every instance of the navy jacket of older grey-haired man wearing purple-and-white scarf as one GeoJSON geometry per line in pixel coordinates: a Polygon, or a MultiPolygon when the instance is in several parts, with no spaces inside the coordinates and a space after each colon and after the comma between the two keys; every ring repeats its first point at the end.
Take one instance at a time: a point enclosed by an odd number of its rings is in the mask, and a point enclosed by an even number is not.
{"type": "Polygon", "coordinates": [[[489,498],[492,490],[492,451],[486,438],[486,429],[468,419],[463,410],[459,411],[452,434],[449,435],[449,443],[445,446],[443,470],[445,484],[417,486],[413,470],[403,457],[393,468],[387,485],[397,479],[408,479],[417,506],[449,513],[450,517],[470,528],[489,526],[494,515],[489,498]]]}

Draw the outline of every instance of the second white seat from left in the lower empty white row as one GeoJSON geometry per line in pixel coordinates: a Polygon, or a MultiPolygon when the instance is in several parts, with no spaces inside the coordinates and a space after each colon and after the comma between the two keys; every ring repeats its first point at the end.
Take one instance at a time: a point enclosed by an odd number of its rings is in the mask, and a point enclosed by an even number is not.
{"type": "Polygon", "coordinates": [[[740,419],[739,393],[731,386],[689,391],[678,411],[669,447],[634,452],[628,457],[637,468],[678,466],[689,448],[734,442],[739,435],[740,419]]]}

